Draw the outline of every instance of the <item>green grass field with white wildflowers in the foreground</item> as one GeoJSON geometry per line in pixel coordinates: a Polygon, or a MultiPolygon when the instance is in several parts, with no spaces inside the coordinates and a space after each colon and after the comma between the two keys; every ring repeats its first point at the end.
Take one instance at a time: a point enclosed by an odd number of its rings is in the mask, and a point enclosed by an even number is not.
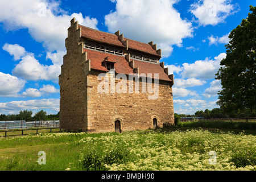
{"type": "Polygon", "coordinates": [[[0,170],[255,170],[255,163],[254,130],[170,127],[0,137],[0,170]],[[39,151],[46,164],[38,163],[39,151]]]}

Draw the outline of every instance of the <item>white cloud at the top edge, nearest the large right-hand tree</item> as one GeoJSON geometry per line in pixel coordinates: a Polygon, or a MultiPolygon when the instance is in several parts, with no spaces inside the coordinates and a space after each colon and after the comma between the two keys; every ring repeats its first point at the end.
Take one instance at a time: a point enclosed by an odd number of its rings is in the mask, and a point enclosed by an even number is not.
{"type": "Polygon", "coordinates": [[[215,26],[225,22],[225,19],[236,13],[236,5],[230,0],[198,0],[191,5],[191,13],[196,16],[200,25],[215,26]]]}

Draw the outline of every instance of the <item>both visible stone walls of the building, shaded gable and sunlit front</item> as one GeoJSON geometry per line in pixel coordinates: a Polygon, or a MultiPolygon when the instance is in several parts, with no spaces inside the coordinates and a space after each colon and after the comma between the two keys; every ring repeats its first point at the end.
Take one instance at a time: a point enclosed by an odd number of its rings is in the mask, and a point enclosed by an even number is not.
{"type": "MultiPolygon", "coordinates": [[[[99,93],[98,75],[102,72],[90,69],[90,60],[84,52],[81,28],[71,20],[68,38],[65,40],[67,54],[63,57],[60,85],[60,129],[64,131],[108,132],[114,131],[114,121],[121,121],[121,130],[140,130],[174,124],[172,87],[168,81],[159,80],[159,96],[149,100],[150,93],[99,93]]],[[[115,85],[118,84],[115,80],[115,85]]],[[[111,87],[110,82],[109,88],[111,87]]],[[[129,80],[127,80],[129,85],[129,80]]],[[[135,87],[135,82],[134,82],[135,87]]],[[[154,85],[154,84],[153,84],[154,85]]],[[[153,86],[154,87],[154,86],[153,86]]],[[[127,88],[128,89],[128,88],[127,88]]]]}

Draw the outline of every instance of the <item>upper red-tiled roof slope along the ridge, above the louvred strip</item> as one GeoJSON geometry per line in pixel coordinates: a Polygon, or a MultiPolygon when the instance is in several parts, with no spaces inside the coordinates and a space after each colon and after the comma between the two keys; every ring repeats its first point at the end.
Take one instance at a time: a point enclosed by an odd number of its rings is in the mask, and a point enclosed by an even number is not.
{"type": "MultiPolygon", "coordinates": [[[[94,30],[89,27],[78,25],[78,28],[81,27],[82,37],[95,40],[100,43],[112,44],[114,46],[125,47],[122,42],[118,40],[118,36],[115,34],[110,34],[108,32],[103,32],[99,30],[94,30]]],[[[142,51],[150,53],[151,55],[160,56],[156,51],[150,46],[150,44],[138,42],[136,40],[123,38],[123,40],[128,40],[128,47],[135,49],[137,51],[142,51]]]]}

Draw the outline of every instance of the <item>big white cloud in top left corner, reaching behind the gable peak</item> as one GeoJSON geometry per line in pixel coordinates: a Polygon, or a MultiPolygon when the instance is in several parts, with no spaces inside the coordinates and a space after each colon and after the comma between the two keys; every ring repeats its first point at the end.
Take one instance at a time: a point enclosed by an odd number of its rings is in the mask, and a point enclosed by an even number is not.
{"type": "Polygon", "coordinates": [[[60,9],[59,3],[48,0],[0,1],[0,22],[6,30],[28,28],[37,42],[49,51],[65,50],[67,28],[73,17],[84,26],[97,28],[97,19],[81,13],[68,15],[60,9]]]}

